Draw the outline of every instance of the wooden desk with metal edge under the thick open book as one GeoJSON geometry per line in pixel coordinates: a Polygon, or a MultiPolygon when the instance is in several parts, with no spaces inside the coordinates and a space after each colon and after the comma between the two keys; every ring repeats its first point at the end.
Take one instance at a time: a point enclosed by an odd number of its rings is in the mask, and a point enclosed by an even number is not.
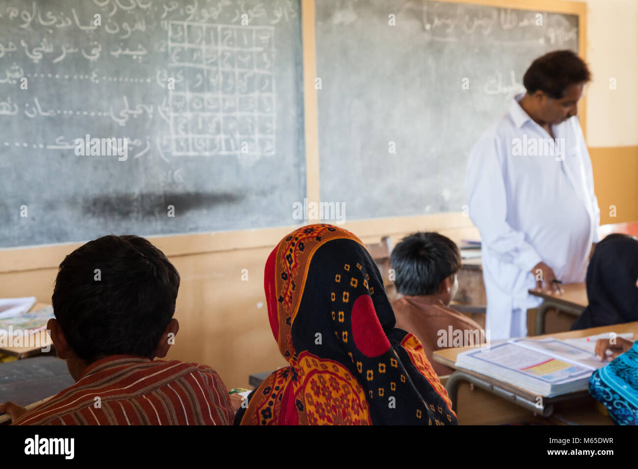
{"type": "MultiPolygon", "coordinates": [[[[616,332],[618,334],[633,332],[634,338],[638,338],[638,322],[547,334],[544,337],[575,339],[602,332],[616,332]]],[[[433,358],[439,363],[456,369],[454,366],[456,356],[470,349],[471,347],[459,347],[438,350],[434,352],[433,358]]],[[[603,415],[595,408],[596,401],[589,396],[587,391],[570,392],[554,398],[543,398],[539,408],[537,396],[529,391],[461,368],[450,375],[445,388],[452,399],[459,423],[464,425],[530,421],[532,413],[538,414],[539,417],[535,418],[544,423],[548,421],[540,416],[550,417],[550,422],[570,421],[582,425],[611,425],[613,423],[611,417],[603,415]]]]}

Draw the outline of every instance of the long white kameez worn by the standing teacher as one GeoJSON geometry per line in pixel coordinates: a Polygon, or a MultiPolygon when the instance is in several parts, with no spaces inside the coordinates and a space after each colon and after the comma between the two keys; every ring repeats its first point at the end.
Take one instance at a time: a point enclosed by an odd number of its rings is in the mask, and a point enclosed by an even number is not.
{"type": "Polygon", "coordinates": [[[540,304],[528,294],[536,287],[531,269],[538,262],[563,283],[582,282],[591,243],[598,242],[600,209],[577,117],[552,127],[554,137],[564,139],[562,155],[561,145],[551,147],[551,154],[521,155],[522,142],[551,138],[520,107],[521,98],[482,135],[466,171],[470,218],[482,242],[492,340],[526,335],[527,309],[540,304]]]}

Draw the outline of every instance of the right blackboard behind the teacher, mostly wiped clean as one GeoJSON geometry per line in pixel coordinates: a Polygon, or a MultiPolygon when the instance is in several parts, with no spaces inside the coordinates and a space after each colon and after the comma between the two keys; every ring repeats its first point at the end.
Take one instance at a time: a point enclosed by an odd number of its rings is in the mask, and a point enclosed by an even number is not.
{"type": "Polygon", "coordinates": [[[576,15],[318,0],[322,201],[343,202],[347,220],[462,211],[472,146],[531,61],[564,48],[578,50],[576,15]]]}

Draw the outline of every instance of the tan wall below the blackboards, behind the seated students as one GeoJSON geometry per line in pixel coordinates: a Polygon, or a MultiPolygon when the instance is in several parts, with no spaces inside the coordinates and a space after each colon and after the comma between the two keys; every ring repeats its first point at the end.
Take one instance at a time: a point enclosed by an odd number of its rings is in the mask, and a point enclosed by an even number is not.
{"type": "MultiPolygon", "coordinates": [[[[476,229],[461,216],[445,214],[431,220],[432,230],[452,239],[477,236],[476,229]]],[[[343,227],[363,232],[360,223],[346,223],[343,227]]],[[[409,232],[392,223],[375,229],[379,236],[363,236],[362,241],[379,242],[381,235],[400,239],[409,232]]],[[[279,231],[276,239],[290,230],[274,230],[279,231]]],[[[165,252],[174,249],[167,242],[170,239],[150,239],[165,252]]],[[[208,364],[229,388],[248,387],[252,373],[285,366],[272,336],[263,294],[263,267],[275,244],[272,241],[260,248],[169,256],[181,276],[175,313],[180,330],[169,359],[208,364]],[[248,270],[248,281],[242,280],[242,269],[248,270]]],[[[75,247],[70,245],[65,251],[75,247]]],[[[34,295],[39,301],[50,302],[56,272],[57,269],[36,269],[0,273],[0,297],[34,295]]]]}

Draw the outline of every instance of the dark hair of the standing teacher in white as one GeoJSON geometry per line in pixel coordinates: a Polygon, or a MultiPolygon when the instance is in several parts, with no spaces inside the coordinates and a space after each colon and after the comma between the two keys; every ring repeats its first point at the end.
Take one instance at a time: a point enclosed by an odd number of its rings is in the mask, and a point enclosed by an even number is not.
{"type": "Polygon", "coordinates": [[[554,100],[565,96],[567,87],[591,80],[587,64],[572,50],[554,50],[538,57],[523,76],[523,86],[528,94],[540,89],[554,100]]]}

